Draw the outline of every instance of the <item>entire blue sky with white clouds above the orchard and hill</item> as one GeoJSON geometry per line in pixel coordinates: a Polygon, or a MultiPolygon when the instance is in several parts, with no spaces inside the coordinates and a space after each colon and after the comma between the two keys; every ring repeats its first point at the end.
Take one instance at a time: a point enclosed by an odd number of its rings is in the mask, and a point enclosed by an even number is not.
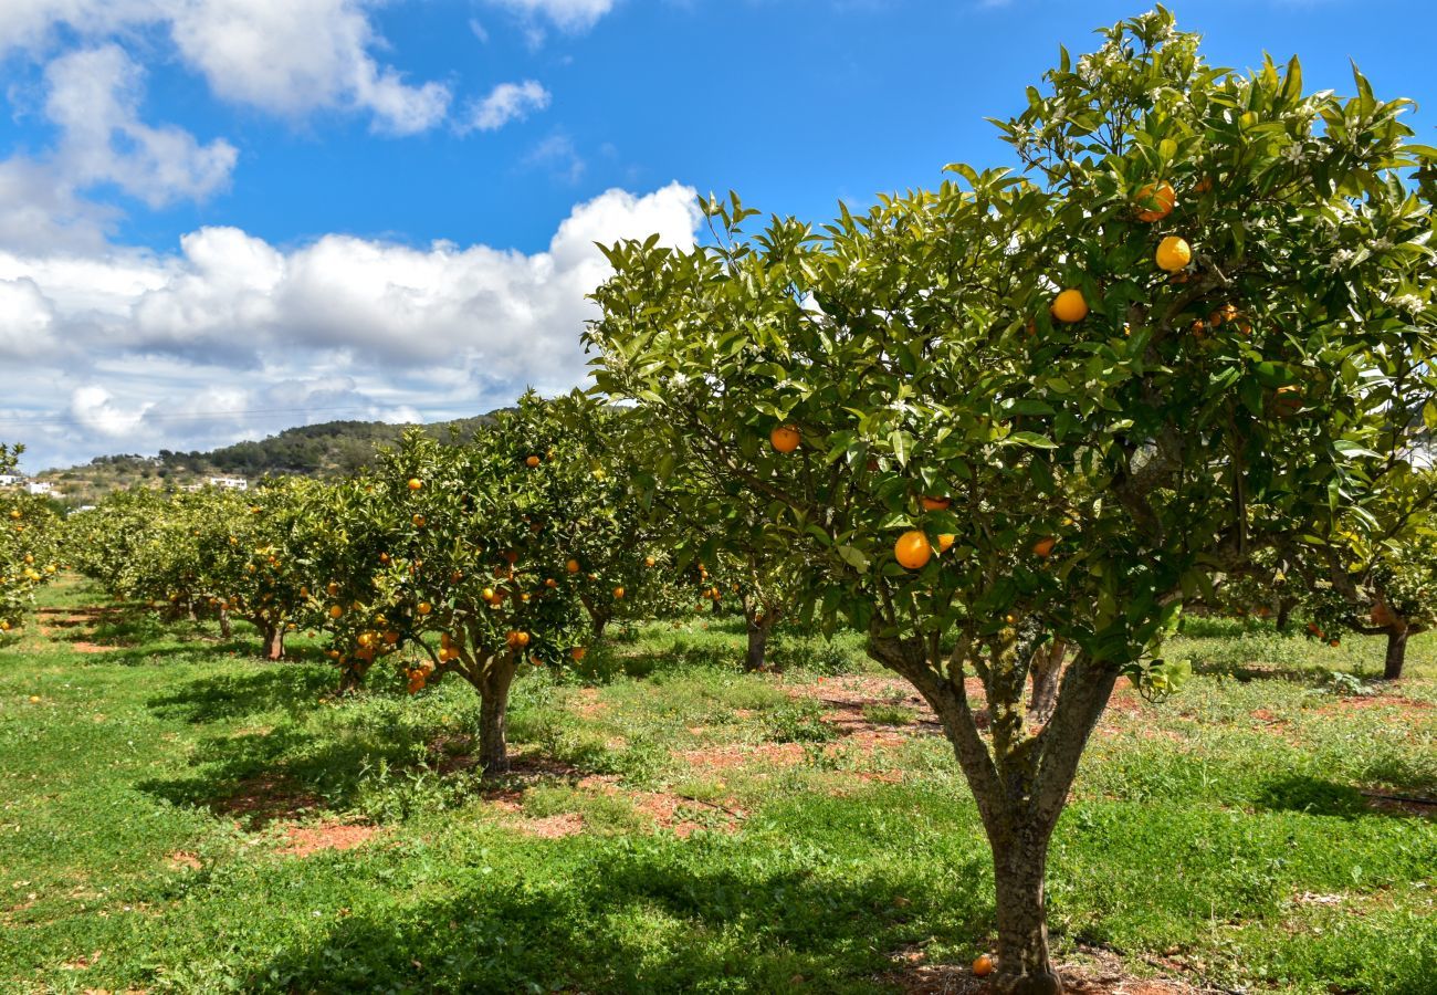
{"type": "MultiPolygon", "coordinates": [[[[1207,58],[1411,96],[1437,4],[1171,4],[1207,58]],[[1400,30],[1392,30],[1400,24],[1400,30]]],[[[434,420],[582,378],[591,242],[694,191],[822,220],[1006,161],[1058,0],[6,0],[0,439],[26,466],[332,417],[434,420]]]]}

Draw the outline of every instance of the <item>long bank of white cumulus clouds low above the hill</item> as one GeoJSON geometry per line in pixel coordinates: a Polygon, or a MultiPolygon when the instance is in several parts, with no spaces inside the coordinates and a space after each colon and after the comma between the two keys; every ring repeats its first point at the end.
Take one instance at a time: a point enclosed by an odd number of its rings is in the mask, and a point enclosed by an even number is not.
{"type": "MultiPolygon", "coordinates": [[[[0,252],[0,322],[55,347],[11,385],[0,436],[27,443],[37,469],[568,390],[586,375],[586,295],[608,273],[595,243],[658,233],[688,247],[700,220],[696,191],[674,183],[576,204],[532,255],[338,234],[280,249],[233,227],[190,233],[174,255],[0,252]],[[57,414],[55,384],[70,391],[57,414]]],[[[13,345],[0,338],[0,357],[13,345]]]]}

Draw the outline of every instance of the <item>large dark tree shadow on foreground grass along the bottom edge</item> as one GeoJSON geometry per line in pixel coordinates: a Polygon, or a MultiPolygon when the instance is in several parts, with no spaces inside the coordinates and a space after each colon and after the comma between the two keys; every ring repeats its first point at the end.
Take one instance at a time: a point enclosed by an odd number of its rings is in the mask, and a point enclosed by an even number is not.
{"type": "Polygon", "coordinates": [[[958,891],[877,873],[839,881],[741,840],[558,845],[578,857],[559,880],[456,868],[461,884],[441,900],[293,935],[246,988],[688,992],[727,979],[729,991],[871,992],[934,919],[954,939],[992,920],[987,889],[971,884],[984,880],[979,857],[946,868],[970,883],[958,891]]]}

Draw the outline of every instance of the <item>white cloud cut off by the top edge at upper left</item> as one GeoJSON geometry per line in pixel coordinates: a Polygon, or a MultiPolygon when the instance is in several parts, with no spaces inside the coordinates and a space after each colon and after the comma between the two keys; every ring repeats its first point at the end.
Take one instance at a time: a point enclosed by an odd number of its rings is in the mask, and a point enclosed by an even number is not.
{"type": "Polygon", "coordinates": [[[374,115],[414,134],[444,119],[450,91],[411,85],[371,56],[381,47],[364,0],[4,0],[0,55],[43,55],[60,29],[93,42],[160,27],[221,99],[302,116],[322,108],[374,115]]]}

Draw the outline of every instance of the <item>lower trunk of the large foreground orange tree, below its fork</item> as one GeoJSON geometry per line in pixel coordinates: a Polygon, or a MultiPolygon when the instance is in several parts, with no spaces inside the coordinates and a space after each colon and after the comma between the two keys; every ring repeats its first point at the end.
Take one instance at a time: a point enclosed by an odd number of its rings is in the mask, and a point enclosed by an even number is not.
{"type": "Polygon", "coordinates": [[[993,884],[997,896],[996,991],[1009,995],[1058,995],[1063,983],[1048,955],[1048,909],[1043,871],[1052,825],[989,834],[993,884]]]}

